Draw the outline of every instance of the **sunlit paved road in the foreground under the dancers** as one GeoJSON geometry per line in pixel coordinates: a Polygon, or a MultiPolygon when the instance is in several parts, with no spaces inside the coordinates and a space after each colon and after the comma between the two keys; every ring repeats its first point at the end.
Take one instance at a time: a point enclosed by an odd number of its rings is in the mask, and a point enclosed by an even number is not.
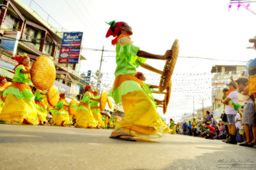
{"type": "Polygon", "coordinates": [[[110,139],[105,129],[0,125],[0,169],[256,169],[256,149],[167,134],[110,139]]]}

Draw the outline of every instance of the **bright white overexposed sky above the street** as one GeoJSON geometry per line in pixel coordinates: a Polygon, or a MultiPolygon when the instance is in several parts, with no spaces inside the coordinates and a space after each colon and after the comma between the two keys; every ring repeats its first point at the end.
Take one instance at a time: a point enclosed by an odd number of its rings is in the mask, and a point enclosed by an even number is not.
{"type": "MultiPolygon", "coordinates": [[[[24,0],[29,5],[31,0],[24,0]]],[[[256,57],[256,51],[248,39],[256,36],[256,15],[232,4],[228,0],[35,0],[68,31],[83,31],[83,47],[115,50],[111,39],[105,38],[111,20],[127,22],[132,27],[132,41],[141,50],[164,54],[174,39],[180,41],[180,56],[206,57],[220,60],[179,58],[175,74],[206,73],[214,64],[244,64],[225,60],[247,61],[256,57]]],[[[246,4],[246,3],[245,3],[246,4]]],[[[38,14],[47,15],[31,3],[38,14]],[[41,11],[41,12],[40,12],[41,11]]],[[[256,3],[250,4],[256,12],[256,3]]],[[[49,20],[51,23],[51,19],[49,20]]],[[[57,26],[60,27],[60,26],[57,26]]],[[[83,50],[88,59],[83,61],[81,71],[99,69],[101,52],[83,50]]],[[[105,52],[104,56],[114,56],[105,52]]],[[[147,63],[163,68],[163,60],[147,60],[147,63]]],[[[102,71],[114,73],[115,57],[104,57],[102,71]]],[[[145,69],[138,69],[145,71],[145,69]]],[[[150,78],[148,78],[150,79],[150,78]]],[[[156,82],[158,84],[159,82],[156,82]]],[[[173,82],[175,83],[175,82],[173,82]]],[[[175,98],[175,97],[173,97],[175,98]]],[[[182,114],[181,112],[179,114],[182,114]]],[[[178,115],[179,115],[178,114],[178,115]]],[[[170,113],[172,115],[172,113],[170,113]]]]}

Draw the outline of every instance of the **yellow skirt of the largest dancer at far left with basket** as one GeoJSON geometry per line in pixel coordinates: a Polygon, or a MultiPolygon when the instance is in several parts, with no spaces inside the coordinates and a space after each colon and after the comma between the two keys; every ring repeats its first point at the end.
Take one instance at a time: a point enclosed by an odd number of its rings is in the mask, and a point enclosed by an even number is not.
{"type": "Polygon", "coordinates": [[[18,99],[13,94],[8,94],[0,114],[0,120],[22,124],[24,119],[33,125],[38,124],[35,100],[29,102],[26,98],[18,99]]]}

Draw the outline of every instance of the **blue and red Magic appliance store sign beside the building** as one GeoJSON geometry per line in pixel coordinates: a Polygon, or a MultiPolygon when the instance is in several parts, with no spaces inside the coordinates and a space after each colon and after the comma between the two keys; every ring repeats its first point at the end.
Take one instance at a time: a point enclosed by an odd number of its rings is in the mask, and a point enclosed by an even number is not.
{"type": "Polygon", "coordinates": [[[80,58],[83,32],[63,32],[59,63],[77,64],[80,58]]]}

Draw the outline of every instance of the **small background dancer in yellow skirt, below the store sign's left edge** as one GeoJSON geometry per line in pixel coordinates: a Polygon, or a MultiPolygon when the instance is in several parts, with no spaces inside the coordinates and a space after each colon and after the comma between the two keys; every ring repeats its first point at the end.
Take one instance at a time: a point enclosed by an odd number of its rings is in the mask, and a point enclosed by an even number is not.
{"type": "Polygon", "coordinates": [[[67,105],[65,104],[65,93],[61,92],[60,101],[54,108],[50,108],[52,113],[52,125],[60,126],[70,126],[71,122],[69,120],[68,111],[65,109],[67,105]]]}

